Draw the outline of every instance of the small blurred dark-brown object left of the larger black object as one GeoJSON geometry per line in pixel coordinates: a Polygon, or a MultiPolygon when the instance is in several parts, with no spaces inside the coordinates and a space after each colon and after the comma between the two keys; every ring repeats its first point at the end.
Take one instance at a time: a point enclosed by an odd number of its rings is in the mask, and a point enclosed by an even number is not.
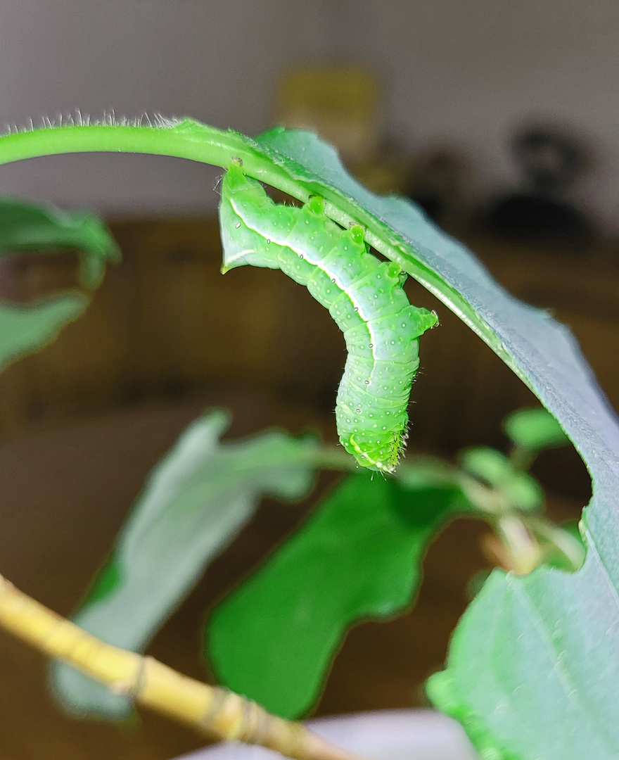
{"type": "Polygon", "coordinates": [[[450,217],[463,204],[469,174],[469,166],[456,148],[422,150],[409,166],[403,194],[435,222],[449,225],[450,217]]]}

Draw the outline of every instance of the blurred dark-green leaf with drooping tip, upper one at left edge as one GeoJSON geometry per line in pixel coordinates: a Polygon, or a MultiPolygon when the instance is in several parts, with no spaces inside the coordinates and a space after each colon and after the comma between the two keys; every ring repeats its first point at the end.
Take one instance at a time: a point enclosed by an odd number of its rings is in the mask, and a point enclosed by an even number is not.
{"type": "Polygon", "coordinates": [[[0,198],[0,258],[65,248],[81,252],[81,280],[90,289],[101,283],[106,261],[120,258],[109,230],[93,214],[68,214],[52,206],[0,198]]]}

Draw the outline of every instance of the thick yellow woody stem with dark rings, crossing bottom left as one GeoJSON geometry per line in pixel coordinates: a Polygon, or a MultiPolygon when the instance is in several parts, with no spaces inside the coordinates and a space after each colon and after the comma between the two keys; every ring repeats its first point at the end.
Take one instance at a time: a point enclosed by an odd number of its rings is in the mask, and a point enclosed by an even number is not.
{"type": "Polygon", "coordinates": [[[216,739],[274,749],[293,760],[361,760],[303,724],[267,713],[245,697],[177,673],[141,654],[106,644],[0,576],[0,627],[44,654],[81,670],[116,694],[134,698],[216,739]]]}

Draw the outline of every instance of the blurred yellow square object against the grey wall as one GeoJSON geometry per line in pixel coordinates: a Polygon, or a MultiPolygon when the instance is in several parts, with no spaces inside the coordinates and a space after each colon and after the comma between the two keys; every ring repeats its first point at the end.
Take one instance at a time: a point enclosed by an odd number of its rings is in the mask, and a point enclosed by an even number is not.
{"type": "Polygon", "coordinates": [[[316,131],[354,169],[377,154],[380,90],[377,76],[365,68],[296,68],[279,82],[277,121],[291,129],[316,131]]]}

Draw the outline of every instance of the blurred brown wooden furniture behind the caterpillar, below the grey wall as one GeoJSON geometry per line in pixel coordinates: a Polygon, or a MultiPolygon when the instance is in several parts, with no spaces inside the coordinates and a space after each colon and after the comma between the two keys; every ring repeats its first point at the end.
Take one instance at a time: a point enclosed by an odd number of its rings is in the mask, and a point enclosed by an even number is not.
{"type": "MultiPolygon", "coordinates": [[[[124,261],[109,268],[80,320],[55,344],[0,377],[0,437],[66,417],[200,389],[245,389],[333,410],[343,339],[305,288],[279,271],[219,274],[214,218],[118,222],[124,261]]],[[[466,236],[465,236],[466,239],[466,236]]],[[[619,407],[619,255],[532,250],[468,236],[501,283],[573,329],[611,404],[619,407]]],[[[21,259],[21,299],[66,286],[71,256],[21,259]]],[[[413,387],[415,447],[455,451],[500,443],[502,417],[532,394],[448,309],[411,278],[412,302],[437,309],[413,387]]]]}

